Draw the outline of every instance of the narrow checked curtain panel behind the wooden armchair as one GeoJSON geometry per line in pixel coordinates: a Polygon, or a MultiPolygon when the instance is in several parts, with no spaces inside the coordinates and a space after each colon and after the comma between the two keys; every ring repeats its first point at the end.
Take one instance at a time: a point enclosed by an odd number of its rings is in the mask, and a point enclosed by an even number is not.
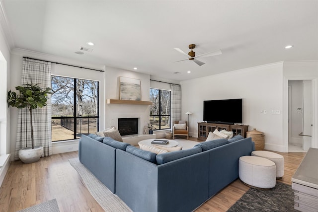
{"type": "Polygon", "coordinates": [[[171,124],[181,120],[181,85],[171,84],[171,124]]]}

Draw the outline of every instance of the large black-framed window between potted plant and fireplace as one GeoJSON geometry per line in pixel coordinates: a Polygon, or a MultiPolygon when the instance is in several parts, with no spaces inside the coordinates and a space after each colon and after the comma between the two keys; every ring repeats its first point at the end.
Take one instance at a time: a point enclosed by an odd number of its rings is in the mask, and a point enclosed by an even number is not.
{"type": "Polygon", "coordinates": [[[96,132],[99,82],[52,76],[52,141],[79,139],[96,132]]]}

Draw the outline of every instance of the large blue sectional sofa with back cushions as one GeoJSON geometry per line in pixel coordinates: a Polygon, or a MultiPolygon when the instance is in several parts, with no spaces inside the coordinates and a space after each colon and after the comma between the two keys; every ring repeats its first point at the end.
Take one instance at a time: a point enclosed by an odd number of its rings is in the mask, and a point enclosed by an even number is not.
{"type": "Polygon", "coordinates": [[[191,212],[239,177],[251,138],[205,141],[155,154],[109,137],[82,136],[79,160],[134,212],[191,212]]]}

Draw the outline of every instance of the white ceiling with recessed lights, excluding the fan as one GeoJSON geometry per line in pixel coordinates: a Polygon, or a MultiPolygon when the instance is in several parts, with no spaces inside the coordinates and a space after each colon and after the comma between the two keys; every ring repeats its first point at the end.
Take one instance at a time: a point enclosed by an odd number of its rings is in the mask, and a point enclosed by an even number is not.
{"type": "MultiPolygon", "coordinates": [[[[185,80],[318,60],[318,0],[1,0],[11,48],[185,80]],[[86,42],[95,43],[89,47],[86,42]],[[173,48],[196,55],[199,67],[173,48]],[[286,50],[286,45],[294,45],[286,50]],[[91,53],[75,54],[80,46],[91,53]],[[174,74],[173,72],[181,72],[174,74]],[[187,73],[191,71],[191,73],[187,73]]],[[[107,68],[106,68],[107,69],[107,68]]]]}

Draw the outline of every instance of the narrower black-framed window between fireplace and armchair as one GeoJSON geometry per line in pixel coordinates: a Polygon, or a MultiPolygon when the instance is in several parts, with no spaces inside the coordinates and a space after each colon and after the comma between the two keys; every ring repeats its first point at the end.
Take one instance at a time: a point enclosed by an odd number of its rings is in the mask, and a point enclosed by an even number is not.
{"type": "Polygon", "coordinates": [[[170,129],[170,91],[150,89],[150,123],[155,130],[170,129]]]}

